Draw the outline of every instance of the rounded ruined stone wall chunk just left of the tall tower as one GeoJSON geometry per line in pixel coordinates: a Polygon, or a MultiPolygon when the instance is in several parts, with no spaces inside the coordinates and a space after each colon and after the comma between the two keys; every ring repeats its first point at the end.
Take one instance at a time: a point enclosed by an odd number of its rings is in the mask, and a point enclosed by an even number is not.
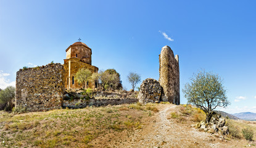
{"type": "Polygon", "coordinates": [[[161,93],[162,86],[160,86],[160,83],[152,78],[147,78],[141,83],[138,99],[142,104],[148,102],[155,103],[155,101],[160,102],[161,93]]]}

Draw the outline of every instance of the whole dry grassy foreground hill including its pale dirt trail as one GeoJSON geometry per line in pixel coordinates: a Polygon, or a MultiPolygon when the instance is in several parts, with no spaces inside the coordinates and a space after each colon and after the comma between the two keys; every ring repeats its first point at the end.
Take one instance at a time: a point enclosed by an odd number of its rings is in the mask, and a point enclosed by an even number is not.
{"type": "MultiPolygon", "coordinates": [[[[49,112],[0,112],[0,147],[246,147],[241,129],[256,122],[227,120],[233,136],[192,128],[205,118],[191,105],[130,104],[49,112]]],[[[256,140],[254,138],[254,140],[256,140]]]]}

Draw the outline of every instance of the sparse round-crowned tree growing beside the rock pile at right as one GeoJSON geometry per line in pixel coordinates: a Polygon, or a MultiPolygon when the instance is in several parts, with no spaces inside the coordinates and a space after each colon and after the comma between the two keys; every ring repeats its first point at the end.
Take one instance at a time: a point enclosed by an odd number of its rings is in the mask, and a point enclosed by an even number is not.
{"type": "Polygon", "coordinates": [[[226,89],[220,76],[201,71],[191,78],[191,83],[185,84],[184,97],[189,104],[194,104],[204,110],[206,123],[209,123],[216,107],[227,107],[229,101],[226,97],[226,89]]]}

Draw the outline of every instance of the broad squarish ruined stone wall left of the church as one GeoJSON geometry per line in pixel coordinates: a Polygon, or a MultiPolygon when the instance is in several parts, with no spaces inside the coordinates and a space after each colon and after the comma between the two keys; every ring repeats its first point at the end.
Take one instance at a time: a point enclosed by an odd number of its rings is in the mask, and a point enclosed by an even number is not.
{"type": "Polygon", "coordinates": [[[63,94],[64,66],[61,64],[17,72],[15,107],[26,107],[30,112],[60,109],[63,94]]]}

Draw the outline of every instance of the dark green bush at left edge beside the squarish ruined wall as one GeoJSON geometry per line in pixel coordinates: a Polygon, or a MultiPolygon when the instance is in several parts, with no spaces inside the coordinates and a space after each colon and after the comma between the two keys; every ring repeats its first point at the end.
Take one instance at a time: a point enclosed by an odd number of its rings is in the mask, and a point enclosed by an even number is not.
{"type": "Polygon", "coordinates": [[[14,86],[8,86],[6,89],[0,91],[0,104],[5,104],[4,110],[12,109],[12,99],[15,97],[14,86]]]}

